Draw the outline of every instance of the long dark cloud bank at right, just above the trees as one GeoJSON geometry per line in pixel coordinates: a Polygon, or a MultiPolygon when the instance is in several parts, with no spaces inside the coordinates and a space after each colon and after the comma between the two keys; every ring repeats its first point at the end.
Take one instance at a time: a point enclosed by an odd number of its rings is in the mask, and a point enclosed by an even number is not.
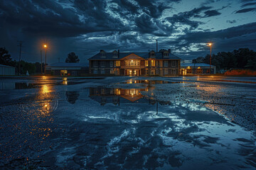
{"type": "Polygon", "coordinates": [[[234,50],[239,47],[253,48],[256,40],[256,23],[217,30],[213,32],[198,31],[186,33],[177,40],[166,42],[174,45],[175,50],[186,49],[179,52],[181,55],[189,55],[191,58],[206,55],[206,43],[213,42],[215,52],[234,50]],[[191,50],[191,45],[198,50],[191,50]]]}

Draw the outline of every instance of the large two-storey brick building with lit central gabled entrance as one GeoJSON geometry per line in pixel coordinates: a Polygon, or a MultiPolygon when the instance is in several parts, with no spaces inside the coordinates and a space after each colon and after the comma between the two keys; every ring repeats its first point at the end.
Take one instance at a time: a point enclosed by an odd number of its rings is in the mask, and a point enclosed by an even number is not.
{"type": "Polygon", "coordinates": [[[178,75],[181,58],[171,50],[161,52],[105,52],[100,50],[90,57],[90,74],[115,74],[122,76],[175,76],[178,75]]]}

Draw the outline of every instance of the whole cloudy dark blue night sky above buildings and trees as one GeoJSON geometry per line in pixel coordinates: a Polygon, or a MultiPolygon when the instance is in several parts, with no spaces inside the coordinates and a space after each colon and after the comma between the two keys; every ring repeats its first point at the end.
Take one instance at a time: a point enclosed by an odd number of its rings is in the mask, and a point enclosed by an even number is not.
{"type": "Polygon", "coordinates": [[[256,50],[256,0],[0,0],[0,47],[18,60],[48,63],[75,52],[87,62],[100,50],[171,48],[185,60],[240,47],[256,50]],[[43,53],[44,55],[44,53],[43,53]]]}

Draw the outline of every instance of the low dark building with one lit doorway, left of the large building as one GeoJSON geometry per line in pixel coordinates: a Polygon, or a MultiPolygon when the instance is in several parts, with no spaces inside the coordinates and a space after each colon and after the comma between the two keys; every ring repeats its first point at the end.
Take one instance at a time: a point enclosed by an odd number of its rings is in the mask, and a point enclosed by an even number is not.
{"type": "Polygon", "coordinates": [[[85,63],[56,62],[46,66],[46,74],[55,76],[81,76],[88,74],[88,67],[85,63]]]}

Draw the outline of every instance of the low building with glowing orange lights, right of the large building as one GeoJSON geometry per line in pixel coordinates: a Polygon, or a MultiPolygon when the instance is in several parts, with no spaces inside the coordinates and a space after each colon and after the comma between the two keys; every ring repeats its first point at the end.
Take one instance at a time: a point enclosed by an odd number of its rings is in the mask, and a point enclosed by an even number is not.
{"type": "Polygon", "coordinates": [[[216,67],[206,63],[181,63],[181,74],[216,74],[216,67]]]}

